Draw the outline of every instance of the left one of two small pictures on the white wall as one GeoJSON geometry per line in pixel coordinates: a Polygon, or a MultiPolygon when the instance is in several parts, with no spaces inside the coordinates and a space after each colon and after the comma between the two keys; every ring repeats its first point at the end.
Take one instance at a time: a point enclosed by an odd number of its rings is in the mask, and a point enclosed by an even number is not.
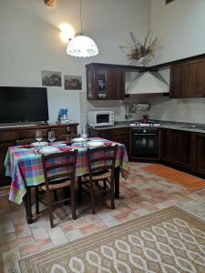
{"type": "Polygon", "coordinates": [[[62,86],[61,72],[42,71],[43,86],[62,86]]]}

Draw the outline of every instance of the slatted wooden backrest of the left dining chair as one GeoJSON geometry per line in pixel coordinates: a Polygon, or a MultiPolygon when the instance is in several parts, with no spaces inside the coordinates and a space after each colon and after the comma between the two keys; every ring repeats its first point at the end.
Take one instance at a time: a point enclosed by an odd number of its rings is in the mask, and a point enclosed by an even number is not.
{"type": "Polygon", "coordinates": [[[75,180],[77,150],[55,153],[50,155],[42,155],[42,163],[46,187],[50,182],[69,177],[71,181],[75,180]]]}

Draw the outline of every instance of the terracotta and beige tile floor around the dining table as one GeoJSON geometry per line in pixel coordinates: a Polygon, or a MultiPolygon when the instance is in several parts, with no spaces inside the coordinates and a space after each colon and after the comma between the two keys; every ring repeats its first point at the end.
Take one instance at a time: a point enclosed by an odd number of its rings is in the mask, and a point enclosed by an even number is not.
{"type": "Polygon", "coordinates": [[[36,221],[27,225],[24,205],[9,202],[8,189],[0,188],[0,273],[18,272],[18,258],[55,248],[164,207],[178,205],[205,220],[205,187],[191,192],[144,171],[141,167],[145,165],[130,163],[130,176],[126,181],[120,179],[120,198],[116,200],[115,210],[109,208],[109,200],[99,197],[97,214],[92,215],[85,196],[77,206],[76,221],[71,219],[69,207],[56,207],[55,228],[50,228],[45,211],[39,216],[34,213],[36,221]]]}

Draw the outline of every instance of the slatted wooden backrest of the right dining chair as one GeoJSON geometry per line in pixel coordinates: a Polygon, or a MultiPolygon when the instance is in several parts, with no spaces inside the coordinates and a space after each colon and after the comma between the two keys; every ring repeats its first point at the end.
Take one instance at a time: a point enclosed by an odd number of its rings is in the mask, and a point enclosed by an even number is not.
{"type": "Polygon", "coordinates": [[[109,147],[87,148],[89,178],[97,171],[110,170],[114,177],[118,145],[109,147]]]}

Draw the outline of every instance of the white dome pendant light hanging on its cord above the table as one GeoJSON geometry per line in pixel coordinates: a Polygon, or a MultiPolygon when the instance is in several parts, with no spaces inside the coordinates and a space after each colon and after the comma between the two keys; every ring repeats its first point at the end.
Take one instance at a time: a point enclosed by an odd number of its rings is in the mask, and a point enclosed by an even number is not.
{"type": "Polygon", "coordinates": [[[80,35],[74,37],[67,45],[67,55],[77,57],[97,56],[96,43],[89,37],[82,34],[82,4],[80,0],[80,35]]]}

